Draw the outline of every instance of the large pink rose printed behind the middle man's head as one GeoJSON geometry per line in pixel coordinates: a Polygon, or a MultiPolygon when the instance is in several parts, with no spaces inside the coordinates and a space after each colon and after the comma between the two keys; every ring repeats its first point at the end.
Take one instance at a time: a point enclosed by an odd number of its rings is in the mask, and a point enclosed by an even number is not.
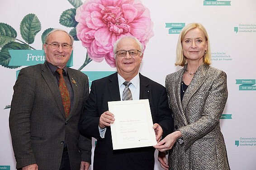
{"type": "MultiPolygon", "coordinates": [[[[122,36],[135,36],[144,46],[154,36],[150,12],[140,0],[85,0],[76,9],[76,34],[87,57],[116,67],[113,45],[122,36]]],[[[89,60],[90,62],[90,60],[89,60]]]]}

